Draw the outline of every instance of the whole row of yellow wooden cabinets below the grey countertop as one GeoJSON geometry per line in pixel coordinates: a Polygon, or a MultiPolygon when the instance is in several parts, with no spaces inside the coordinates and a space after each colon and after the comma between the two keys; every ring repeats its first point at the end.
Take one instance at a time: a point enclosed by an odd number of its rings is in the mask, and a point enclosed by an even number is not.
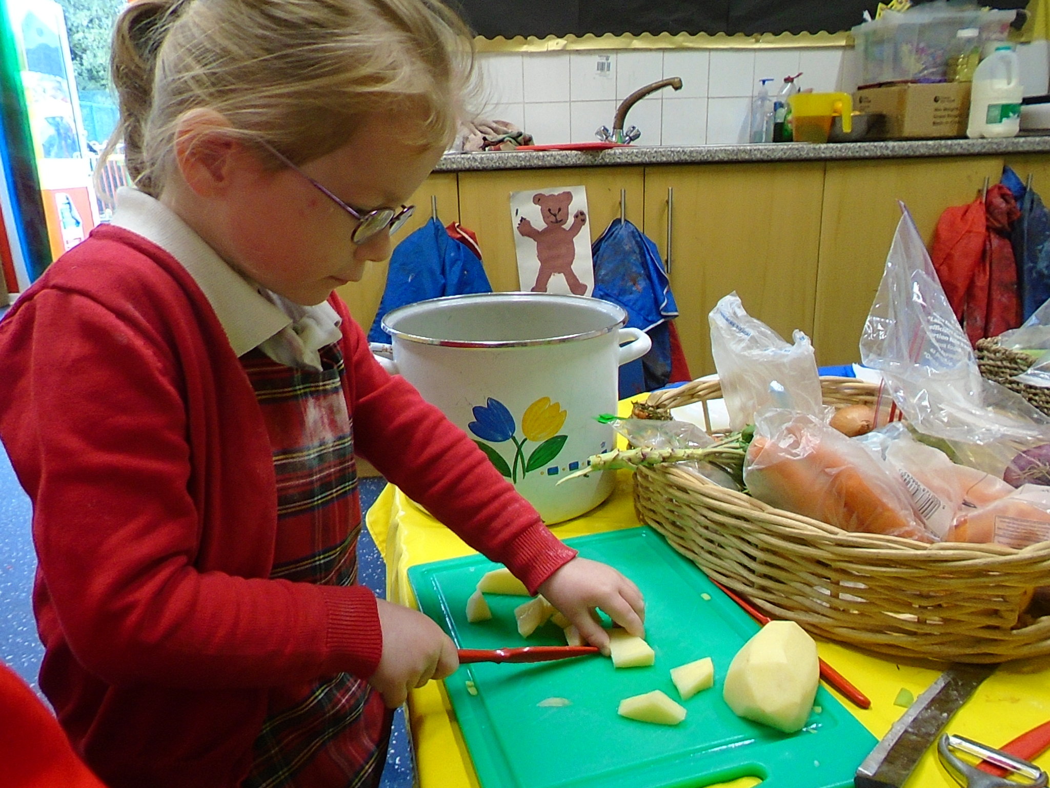
{"type": "MultiPolygon", "coordinates": [[[[1050,155],[1007,157],[1021,178],[1050,192],[1050,155]]],[[[588,229],[597,239],[620,215],[656,242],[666,257],[668,190],[671,286],[690,370],[714,372],[708,313],[736,290],[744,308],[785,339],[808,334],[821,365],[859,359],[858,344],[900,220],[898,200],[931,241],[941,213],[970,202],[985,178],[999,181],[1002,157],[945,157],[855,162],[690,164],[439,172],[414,198],[416,214],[395,243],[430,217],[461,221],[478,234],[492,289],[519,289],[513,191],[584,185],[588,229]]],[[[340,288],[368,329],[386,278],[386,264],[340,288]]]]}

